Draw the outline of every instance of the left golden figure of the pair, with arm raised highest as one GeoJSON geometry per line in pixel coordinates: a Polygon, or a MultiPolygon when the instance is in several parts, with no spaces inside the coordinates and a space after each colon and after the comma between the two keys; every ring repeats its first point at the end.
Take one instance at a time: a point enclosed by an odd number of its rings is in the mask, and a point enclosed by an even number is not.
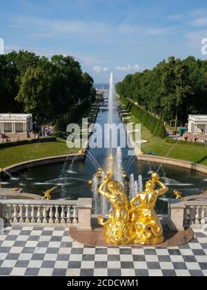
{"type": "Polygon", "coordinates": [[[103,226],[102,235],[107,244],[131,244],[133,238],[129,223],[128,198],[121,184],[110,180],[111,173],[108,171],[106,174],[103,184],[99,187],[99,193],[110,200],[113,209],[106,222],[101,215],[97,218],[103,226]],[[106,186],[108,191],[105,191],[106,186]]]}

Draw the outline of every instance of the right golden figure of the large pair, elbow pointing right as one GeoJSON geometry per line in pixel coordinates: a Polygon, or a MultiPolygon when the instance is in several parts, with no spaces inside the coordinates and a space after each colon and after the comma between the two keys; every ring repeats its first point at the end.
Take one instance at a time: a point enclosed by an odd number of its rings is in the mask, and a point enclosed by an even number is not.
{"type": "Polygon", "coordinates": [[[130,201],[130,224],[136,233],[135,244],[161,244],[164,242],[161,222],[155,213],[157,197],[168,191],[168,186],[159,180],[157,173],[152,173],[152,179],[146,182],[144,192],[138,193],[130,201]],[[161,186],[155,189],[155,186],[161,186]],[[139,202],[139,204],[135,204],[139,202]]]}

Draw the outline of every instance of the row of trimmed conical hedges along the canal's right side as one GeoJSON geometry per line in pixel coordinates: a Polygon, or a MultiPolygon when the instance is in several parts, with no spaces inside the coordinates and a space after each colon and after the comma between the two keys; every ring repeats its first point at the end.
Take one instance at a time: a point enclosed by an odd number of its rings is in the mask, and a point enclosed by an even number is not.
{"type": "Polygon", "coordinates": [[[144,110],[144,108],[141,108],[141,106],[133,104],[124,96],[120,97],[120,101],[126,106],[127,110],[130,110],[132,115],[134,115],[141,124],[148,128],[152,135],[160,138],[166,137],[166,128],[163,121],[152,115],[152,113],[149,113],[147,110],[144,110]]]}

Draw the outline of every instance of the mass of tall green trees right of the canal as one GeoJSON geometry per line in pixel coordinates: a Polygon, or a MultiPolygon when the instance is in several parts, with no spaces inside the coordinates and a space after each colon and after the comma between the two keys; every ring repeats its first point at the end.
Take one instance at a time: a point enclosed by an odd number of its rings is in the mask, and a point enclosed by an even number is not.
{"type": "Polygon", "coordinates": [[[188,115],[207,113],[207,61],[169,57],[152,70],[126,75],[117,93],[175,127],[184,125],[188,115]]]}

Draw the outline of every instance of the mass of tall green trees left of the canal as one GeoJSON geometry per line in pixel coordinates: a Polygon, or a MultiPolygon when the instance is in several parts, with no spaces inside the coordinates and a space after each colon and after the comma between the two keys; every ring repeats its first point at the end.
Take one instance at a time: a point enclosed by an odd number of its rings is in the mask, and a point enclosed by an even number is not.
{"type": "Polygon", "coordinates": [[[34,120],[55,120],[75,104],[95,98],[93,79],[73,57],[51,59],[20,50],[0,55],[1,113],[32,113],[34,120]]]}

